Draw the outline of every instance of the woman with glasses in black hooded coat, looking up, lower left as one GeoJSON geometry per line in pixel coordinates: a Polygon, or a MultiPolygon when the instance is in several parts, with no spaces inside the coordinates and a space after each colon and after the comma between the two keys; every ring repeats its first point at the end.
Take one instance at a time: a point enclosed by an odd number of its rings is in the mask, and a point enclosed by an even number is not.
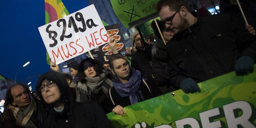
{"type": "Polygon", "coordinates": [[[61,73],[51,71],[41,75],[36,92],[50,112],[43,128],[112,128],[96,103],[73,100],[71,89],[61,73]]]}

